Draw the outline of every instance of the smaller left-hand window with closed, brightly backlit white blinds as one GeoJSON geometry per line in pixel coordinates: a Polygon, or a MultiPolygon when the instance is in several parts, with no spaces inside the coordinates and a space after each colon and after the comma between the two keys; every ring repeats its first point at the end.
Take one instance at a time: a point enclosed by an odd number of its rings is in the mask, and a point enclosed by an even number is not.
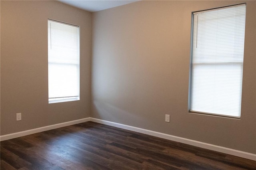
{"type": "Polygon", "coordinates": [[[48,102],[80,99],[79,27],[48,20],[48,102]]]}

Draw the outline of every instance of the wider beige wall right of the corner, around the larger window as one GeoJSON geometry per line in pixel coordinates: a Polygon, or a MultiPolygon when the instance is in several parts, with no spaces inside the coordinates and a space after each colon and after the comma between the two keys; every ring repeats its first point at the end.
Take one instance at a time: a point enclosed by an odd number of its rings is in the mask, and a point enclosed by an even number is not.
{"type": "Polygon", "coordinates": [[[93,13],[91,117],[256,154],[256,1],[247,2],[241,119],[188,113],[191,12],[237,3],[140,1],[93,13]]]}

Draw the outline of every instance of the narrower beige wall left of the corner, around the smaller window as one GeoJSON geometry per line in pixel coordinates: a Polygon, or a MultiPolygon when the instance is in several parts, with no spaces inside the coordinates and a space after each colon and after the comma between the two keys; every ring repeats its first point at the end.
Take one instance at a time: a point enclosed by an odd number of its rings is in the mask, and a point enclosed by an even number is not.
{"type": "Polygon", "coordinates": [[[90,116],[91,15],[57,1],[1,1],[1,135],[90,116]],[[80,101],[48,104],[48,18],[80,26],[80,101]]]}

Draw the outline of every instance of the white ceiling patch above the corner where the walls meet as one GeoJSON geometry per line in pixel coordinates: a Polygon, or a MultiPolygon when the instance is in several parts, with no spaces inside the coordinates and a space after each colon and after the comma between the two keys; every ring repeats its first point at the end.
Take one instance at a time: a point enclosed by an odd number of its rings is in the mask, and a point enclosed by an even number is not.
{"type": "Polygon", "coordinates": [[[116,6],[130,4],[138,0],[59,0],[65,4],[75,6],[77,8],[89,11],[97,12],[116,6]]]}

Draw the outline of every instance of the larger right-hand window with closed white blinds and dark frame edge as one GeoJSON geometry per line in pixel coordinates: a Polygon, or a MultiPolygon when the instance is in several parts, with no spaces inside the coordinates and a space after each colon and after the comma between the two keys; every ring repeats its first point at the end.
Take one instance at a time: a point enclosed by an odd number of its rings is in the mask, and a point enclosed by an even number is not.
{"type": "Polygon", "coordinates": [[[192,13],[189,111],[240,118],[246,4],[192,13]]]}

